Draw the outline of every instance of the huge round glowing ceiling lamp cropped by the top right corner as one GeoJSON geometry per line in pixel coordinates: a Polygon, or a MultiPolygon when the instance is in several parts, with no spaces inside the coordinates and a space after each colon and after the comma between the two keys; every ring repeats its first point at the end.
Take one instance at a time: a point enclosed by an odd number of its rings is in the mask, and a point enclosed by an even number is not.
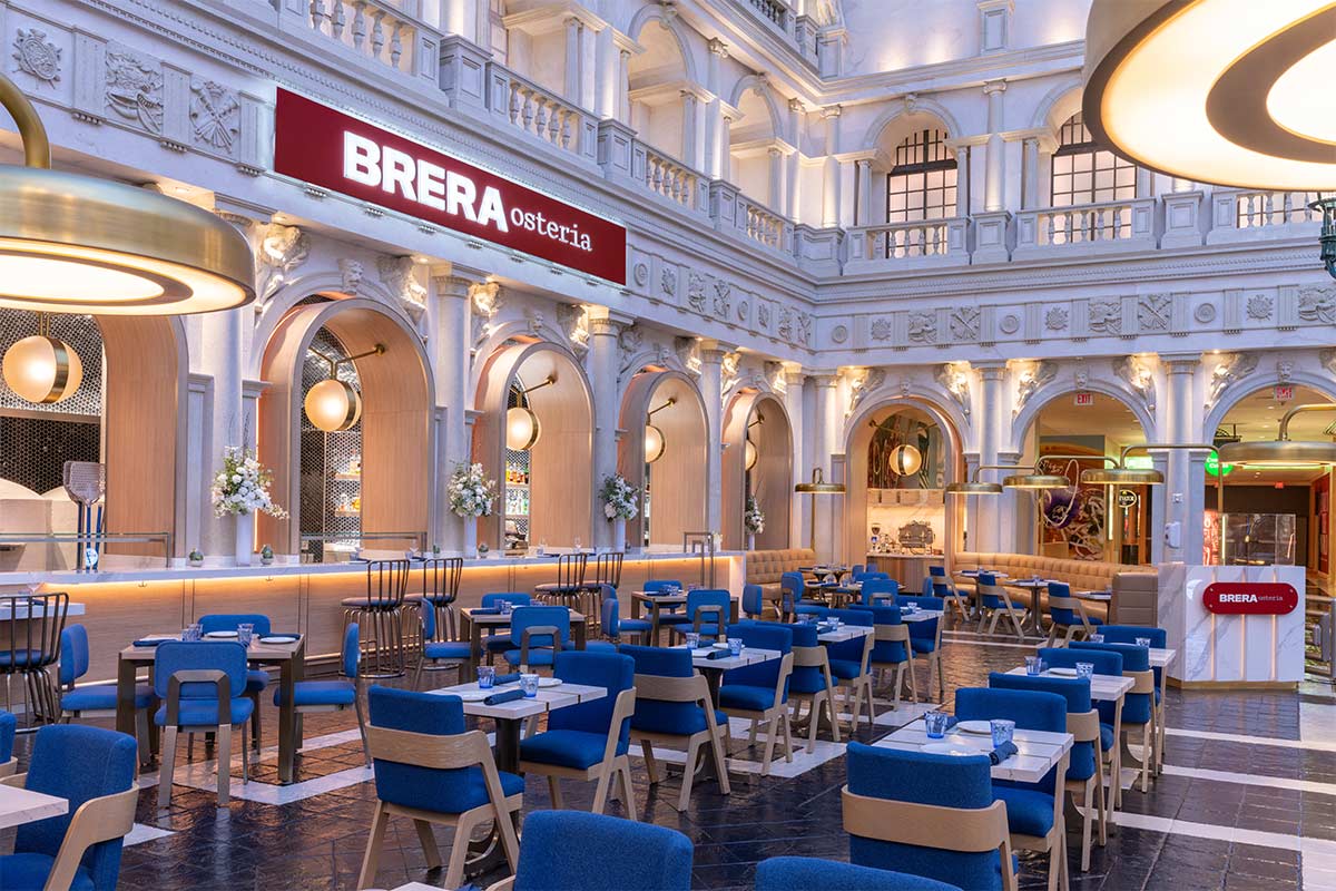
{"type": "Polygon", "coordinates": [[[1098,142],[1172,176],[1332,190],[1333,69],[1331,0],[1094,0],[1083,119],[1098,142]]]}

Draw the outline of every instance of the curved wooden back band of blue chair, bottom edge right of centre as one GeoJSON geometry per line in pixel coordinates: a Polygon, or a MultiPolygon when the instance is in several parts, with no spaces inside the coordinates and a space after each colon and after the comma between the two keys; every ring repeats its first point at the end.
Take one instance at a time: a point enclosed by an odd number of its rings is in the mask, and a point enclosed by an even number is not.
{"type": "Polygon", "coordinates": [[[844,831],[850,835],[961,854],[997,851],[1001,859],[1002,890],[1017,891],[1005,801],[994,801],[985,808],[915,804],[855,795],[848,791],[847,783],[840,789],[840,797],[844,831]]]}

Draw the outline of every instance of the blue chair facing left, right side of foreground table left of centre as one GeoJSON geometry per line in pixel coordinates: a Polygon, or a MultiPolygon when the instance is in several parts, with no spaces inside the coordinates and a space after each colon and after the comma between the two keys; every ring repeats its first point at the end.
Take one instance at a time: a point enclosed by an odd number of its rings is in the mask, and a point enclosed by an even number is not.
{"type": "MultiPolygon", "coordinates": [[[[609,598],[611,600],[611,598],[609,598]]],[[[548,777],[552,807],[562,810],[561,777],[597,780],[593,812],[603,814],[612,780],[621,780],[627,816],[636,819],[631,788],[631,717],[636,711],[636,663],[619,653],[557,653],[553,676],[572,684],[604,687],[603,699],[558,708],[548,729],[520,743],[520,772],[548,777]]]]}

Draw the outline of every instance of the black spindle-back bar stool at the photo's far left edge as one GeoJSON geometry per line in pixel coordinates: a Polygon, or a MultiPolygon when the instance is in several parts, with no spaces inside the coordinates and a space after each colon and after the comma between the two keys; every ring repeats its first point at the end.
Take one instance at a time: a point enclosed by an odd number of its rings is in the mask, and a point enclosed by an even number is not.
{"type": "Polygon", "coordinates": [[[7,711],[13,711],[13,679],[20,676],[28,713],[36,721],[60,720],[60,691],[48,669],[60,660],[60,633],[68,610],[65,592],[0,597],[0,622],[5,628],[0,637],[0,675],[7,711]]]}

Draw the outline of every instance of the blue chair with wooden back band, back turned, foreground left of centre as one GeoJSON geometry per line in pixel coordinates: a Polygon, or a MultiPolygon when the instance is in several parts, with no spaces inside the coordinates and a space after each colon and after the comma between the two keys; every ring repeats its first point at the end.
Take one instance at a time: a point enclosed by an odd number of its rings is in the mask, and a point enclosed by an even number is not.
{"type": "Polygon", "coordinates": [[[460,697],[375,685],[366,692],[366,701],[378,800],[357,887],[377,884],[375,868],[391,816],[414,822],[433,870],[441,866],[441,852],[430,824],[454,827],[445,871],[449,888],[464,884],[469,838],[486,823],[496,823],[514,870],[520,855],[514,818],[524,807],[524,777],[497,769],[486,733],[465,729],[460,697]]]}

